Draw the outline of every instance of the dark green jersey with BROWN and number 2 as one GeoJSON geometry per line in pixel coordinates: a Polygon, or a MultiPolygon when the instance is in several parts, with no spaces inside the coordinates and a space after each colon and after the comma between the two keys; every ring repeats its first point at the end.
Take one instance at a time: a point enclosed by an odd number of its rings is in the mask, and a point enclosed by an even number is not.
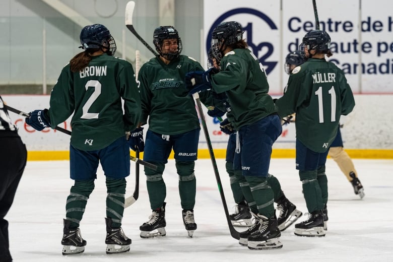
{"type": "Polygon", "coordinates": [[[50,95],[51,127],[73,113],[71,145],[80,150],[102,149],[134,130],[141,98],[132,65],[107,54],[93,56],[80,72],[65,65],[50,95]]]}

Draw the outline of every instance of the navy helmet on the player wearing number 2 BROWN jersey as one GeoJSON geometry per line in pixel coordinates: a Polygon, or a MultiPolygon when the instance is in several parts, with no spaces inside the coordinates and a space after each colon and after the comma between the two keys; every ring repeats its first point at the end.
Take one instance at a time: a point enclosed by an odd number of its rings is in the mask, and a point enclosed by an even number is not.
{"type": "Polygon", "coordinates": [[[79,36],[84,50],[95,48],[107,48],[109,55],[114,55],[116,52],[116,42],[111,36],[109,30],[101,25],[94,24],[85,26],[79,36]]]}

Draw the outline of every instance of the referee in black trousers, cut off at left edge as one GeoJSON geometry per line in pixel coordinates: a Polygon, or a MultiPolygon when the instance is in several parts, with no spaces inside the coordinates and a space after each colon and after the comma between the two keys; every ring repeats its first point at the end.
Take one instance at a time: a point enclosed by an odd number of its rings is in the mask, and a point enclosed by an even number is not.
{"type": "Polygon", "coordinates": [[[11,262],[8,237],[8,221],[4,219],[14,202],[23,171],[26,166],[27,151],[18,128],[12,123],[4,101],[0,96],[0,261],[11,262]]]}

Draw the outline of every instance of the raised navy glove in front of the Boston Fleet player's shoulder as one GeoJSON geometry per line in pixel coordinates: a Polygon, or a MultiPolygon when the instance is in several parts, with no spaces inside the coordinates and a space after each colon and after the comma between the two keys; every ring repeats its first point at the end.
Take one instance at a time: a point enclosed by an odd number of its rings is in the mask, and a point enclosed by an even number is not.
{"type": "Polygon", "coordinates": [[[185,75],[185,88],[189,94],[195,94],[204,90],[212,89],[210,76],[217,73],[218,70],[211,68],[208,71],[193,71],[185,75]]]}

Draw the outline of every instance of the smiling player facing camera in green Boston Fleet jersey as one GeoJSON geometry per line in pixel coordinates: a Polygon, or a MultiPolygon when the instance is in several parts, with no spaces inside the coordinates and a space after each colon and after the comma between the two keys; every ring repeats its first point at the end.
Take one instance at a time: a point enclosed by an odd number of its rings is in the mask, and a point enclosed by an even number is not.
{"type": "MultiPolygon", "coordinates": [[[[193,58],[180,54],[182,43],[173,26],[157,27],[153,43],[159,56],[142,65],[138,80],[142,99],[140,125],[146,124],[149,117],[144,160],[157,165],[158,169],[145,167],[152,215],[140,226],[140,236],[149,238],[166,234],[163,172],[173,149],[183,223],[188,236],[192,237],[197,229],[193,211],[196,192],[194,165],[201,127],[194,100],[188,96],[183,81],[186,73],[202,70],[202,66],[193,58]]],[[[205,105],[211,99],[211,92],[201,94],[205,105]]],[[[209,106],[218,105],[209,102],[209,106]]]]}

